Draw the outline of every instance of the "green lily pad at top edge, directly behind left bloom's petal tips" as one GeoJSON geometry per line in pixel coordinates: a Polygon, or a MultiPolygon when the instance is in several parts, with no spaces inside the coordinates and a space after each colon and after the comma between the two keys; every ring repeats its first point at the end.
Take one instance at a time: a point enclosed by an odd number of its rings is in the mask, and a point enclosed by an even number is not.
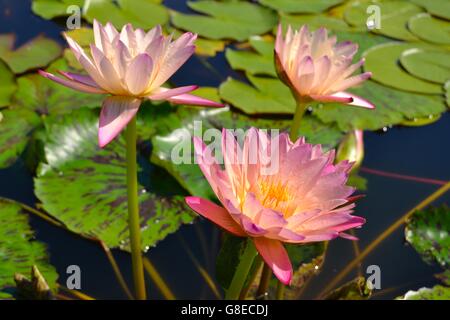
{"type": "Polygon", "coordinates": [[[111,22],[116,28],[131,23],[135,28],[148,30],[169,20],[169,12],[161,0],[95,0],[86,1],[83,17],[93,22],[111,22]],[[117,3],[117,5],[116,5],[117,3]]]}

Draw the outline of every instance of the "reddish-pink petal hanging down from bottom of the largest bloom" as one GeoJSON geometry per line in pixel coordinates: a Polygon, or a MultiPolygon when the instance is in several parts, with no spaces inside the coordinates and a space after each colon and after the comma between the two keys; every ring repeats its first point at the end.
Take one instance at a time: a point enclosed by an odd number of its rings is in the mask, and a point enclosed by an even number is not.
{"type": "Polygon", "coordinates": [[[253,239],[261,257],[272,269],[275,276],[289,285],[292,279],[292,265],[283,244],[278,240],[258,237],[253,239]]]}

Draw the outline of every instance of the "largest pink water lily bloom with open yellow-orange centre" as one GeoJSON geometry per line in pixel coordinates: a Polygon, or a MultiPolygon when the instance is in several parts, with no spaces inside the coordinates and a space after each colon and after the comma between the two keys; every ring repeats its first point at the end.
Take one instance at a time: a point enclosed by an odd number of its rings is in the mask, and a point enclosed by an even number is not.
{"type": "Polygon", "coordinates": [[[353,216],[354,188],[346,186],[352,163],[333,164],[334,150],[323,152],[304,138],[293,143],[288,134],[269,137],[251,128],[238,144],[224,130],[224,169],[211,146],[194,138],[198,164],[222,206],[187,197],[197,213],[226,231],[250,237],[277,278],[289,284],[292,266],[283,243],[304,244],[338,236],[356,240],[343,231],[365,219],[353,216]],[[272,150],[270,157],[267,151],[272,150]],[[268,167],[276,170],[265,170],[268,167]]]}

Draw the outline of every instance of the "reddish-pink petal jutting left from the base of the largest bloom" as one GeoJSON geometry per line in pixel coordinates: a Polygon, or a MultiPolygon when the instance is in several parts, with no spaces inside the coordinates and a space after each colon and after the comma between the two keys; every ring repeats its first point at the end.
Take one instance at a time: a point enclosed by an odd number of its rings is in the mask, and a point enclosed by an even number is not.
{"type": "Polygon", "coordinates": [[[219,227],[222,227],[226,231],[236,236],[246,236],[242,228],[236,223],[236,221],[233,220],[228,211],[226,211],[224,208],[211,201],[199,197],[186,197],[185,200],[192,210],[207,218],[208,220],[211,220],[219,227]]]}

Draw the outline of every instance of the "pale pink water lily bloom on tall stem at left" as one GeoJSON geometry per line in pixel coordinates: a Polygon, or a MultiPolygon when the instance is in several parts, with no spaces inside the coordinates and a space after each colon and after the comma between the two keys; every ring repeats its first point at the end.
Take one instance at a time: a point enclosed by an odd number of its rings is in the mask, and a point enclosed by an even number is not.
{"type": "Polygon", "coordinates": [[[145,33],[125,25],[119,33],[111,23],[103,27],[94,21],[95,42],[89,57],[66,35],[77,60],[88,75],[60,72],[64,78],[40,74],[69,88],[97,94],[111,94],[102,106],[99,145],[113,140],[136,115],[143,99],[168,100],[177,104],[221,107],[210,100],[190,95],[197,86],[164,88],[162,85],[194,53],[197,35],[185,33],[177,40],[164,36],[160,26],[145,33]]]}

